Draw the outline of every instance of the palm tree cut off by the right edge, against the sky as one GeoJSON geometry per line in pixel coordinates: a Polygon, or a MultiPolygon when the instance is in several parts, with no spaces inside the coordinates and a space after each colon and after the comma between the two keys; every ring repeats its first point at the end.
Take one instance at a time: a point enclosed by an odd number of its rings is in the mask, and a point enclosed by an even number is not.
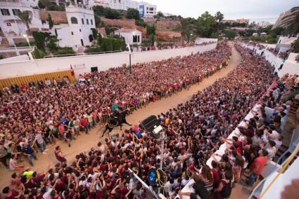
{"type": "Polygon", "coordinates": [[[299,6],[291,8],[290,13],[281,19],[281,27],[286,27],[290,33],[299,32],[299,6]]]}

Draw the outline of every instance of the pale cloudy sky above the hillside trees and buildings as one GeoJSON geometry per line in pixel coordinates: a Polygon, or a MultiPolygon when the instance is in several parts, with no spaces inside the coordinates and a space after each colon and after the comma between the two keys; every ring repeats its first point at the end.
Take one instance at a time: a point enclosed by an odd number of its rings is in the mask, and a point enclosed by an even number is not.
{"type": "Polygon", "coordinates": [[[144,0],[157,6],[158,11],[182,17],[198,18],[208,11],[224,14],[224,19],[246,18],[250,22],[274,23],[280,13],[299,6],[298,0],[144,0]]]}

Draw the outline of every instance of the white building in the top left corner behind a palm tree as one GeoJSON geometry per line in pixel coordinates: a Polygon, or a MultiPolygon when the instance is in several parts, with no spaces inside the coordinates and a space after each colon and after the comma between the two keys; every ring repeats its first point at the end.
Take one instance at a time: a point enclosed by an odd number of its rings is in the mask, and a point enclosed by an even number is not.
{"type": "Polygon", "coordinates": [[[49,25],[42,24],[39,10],[32,8],[37,6],[37,0],[7,0],[0,1],[0,32],[6,37],[11,46],[15,44],[15,39],[24,39],[27,32],[26,25],[18,18],[18,12],[28,11],[32,16],[29,25],[31,30],[46,31],[49,25]]]}

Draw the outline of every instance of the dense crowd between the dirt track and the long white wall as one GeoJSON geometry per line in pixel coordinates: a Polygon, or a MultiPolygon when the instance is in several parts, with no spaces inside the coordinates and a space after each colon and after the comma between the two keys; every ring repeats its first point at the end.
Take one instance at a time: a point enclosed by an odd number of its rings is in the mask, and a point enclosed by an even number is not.
{"type": "Polygon", "coordinates": [[[30,82],[28,86],[22,83],[21,88],[15,84],[11,90],[4,88],[0,98],[0,143],[5,148],[1,161],[8,168],[8,154],[23,154],[33,165],[37,149],[46,153],[46,144],[55,144],[58,138],[70,146],[71,139],[81,131],[88,133],[95,123],[105,123],[117,107],[133,111],[199,83],[226,65],[230,55],[229,46],[223,43],[207,53],[136,64],[131,74],[119,67],[84,74],[75,84],[64,77],[39,81],[37,86],[30,82]]]}

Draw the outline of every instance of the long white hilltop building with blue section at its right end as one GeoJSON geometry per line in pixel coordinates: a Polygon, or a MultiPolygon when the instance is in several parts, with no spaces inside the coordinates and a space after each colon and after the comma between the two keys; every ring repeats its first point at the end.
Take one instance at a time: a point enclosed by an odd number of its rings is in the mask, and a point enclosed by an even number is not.
{"type": "MultiPolygon", "coordinates": [[[[116,10],[127,11],[128,8],[134,8],[139,10],[141,18],[152,18],[153,15],[157,14],[157,6],[148,4],[146,2],[139,2],[133,0],[94,0],[94,2],[104,1],[109,5],[110,8],[116,10]]],[[[103,3],[104,3],[103,2],[103,3]]],[[[103,4],[101,2],[101,4],[103,4]]],[[[100,4],[99,2],[96,4],[100,4]]]]}

